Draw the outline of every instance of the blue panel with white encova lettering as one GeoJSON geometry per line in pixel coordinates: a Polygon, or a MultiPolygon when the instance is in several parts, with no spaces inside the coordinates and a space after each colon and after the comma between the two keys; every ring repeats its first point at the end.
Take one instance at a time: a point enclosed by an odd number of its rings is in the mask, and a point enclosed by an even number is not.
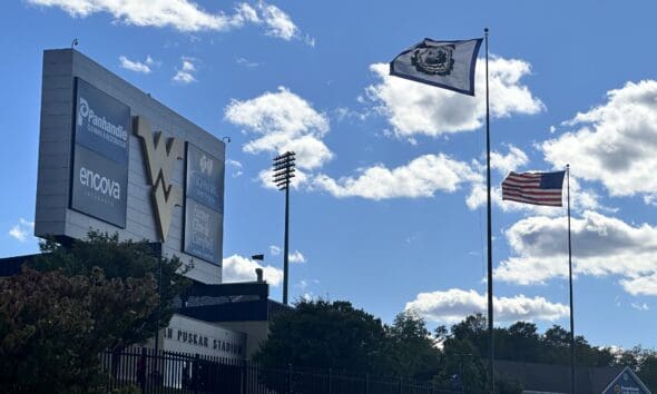
{"type": "Polygon", "coordinates": [[[126,227],[128,171],[82,146],[76,146],[71,177],[71,208],[126,227]]]}

